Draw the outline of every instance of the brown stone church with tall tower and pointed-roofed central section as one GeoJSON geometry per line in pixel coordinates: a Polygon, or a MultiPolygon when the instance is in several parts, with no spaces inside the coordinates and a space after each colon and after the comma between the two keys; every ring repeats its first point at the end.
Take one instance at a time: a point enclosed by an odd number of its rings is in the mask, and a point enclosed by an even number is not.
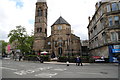
{"type": "Polygon", "coordinates": [[[71,32],[71,25],[63,17],[51,25],[51,35],[47,37],[47,9],[46,0],[37,1],[33,50],[47,51],[53,57],[81,55],[80,37],[71,32]]]}

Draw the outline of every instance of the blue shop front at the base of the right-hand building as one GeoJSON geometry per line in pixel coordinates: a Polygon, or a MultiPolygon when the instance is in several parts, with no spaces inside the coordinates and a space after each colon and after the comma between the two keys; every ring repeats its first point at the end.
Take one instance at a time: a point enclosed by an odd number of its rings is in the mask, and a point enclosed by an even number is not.
{"type": "Polygon", "coordinates": [[[118,62],[117,57],[120,55],[120,45],[109,46],[109,62],[118,62]]]}

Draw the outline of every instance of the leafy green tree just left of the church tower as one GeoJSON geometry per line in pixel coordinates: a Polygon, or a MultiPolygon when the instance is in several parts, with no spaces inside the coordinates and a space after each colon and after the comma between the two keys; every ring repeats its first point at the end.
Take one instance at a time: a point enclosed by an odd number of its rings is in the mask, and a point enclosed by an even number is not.
{"type": "Polygon", "coordinates": [[[8,34],[9,42],[17,42],[17,49],[23,52],[29,52],[32,50],[33,45],[33,36],[27,35],[26,29],[22,26],[16,26],[16,29],[13,29],[8,34]]]}

